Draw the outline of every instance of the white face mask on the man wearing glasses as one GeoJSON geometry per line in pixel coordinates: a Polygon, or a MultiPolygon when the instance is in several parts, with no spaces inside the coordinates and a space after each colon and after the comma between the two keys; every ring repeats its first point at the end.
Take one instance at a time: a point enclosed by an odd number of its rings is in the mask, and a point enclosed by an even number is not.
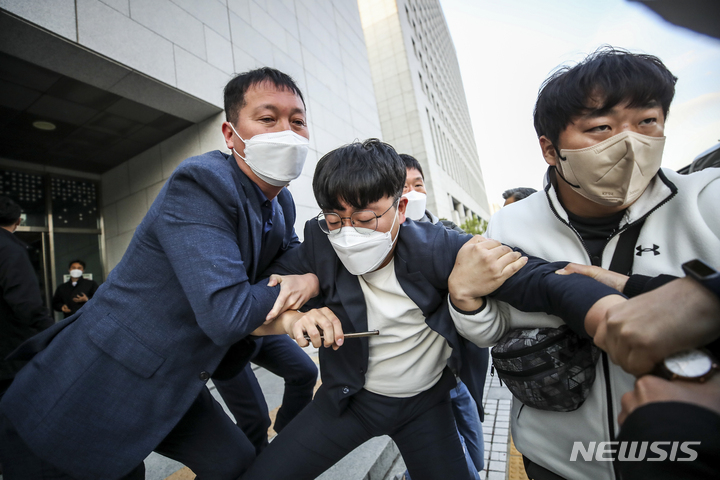
{"type": "Polygon", "coordinates": [[[392,229],[395,228],[395,220],[397,220],[397,207],[395,208],[393,224],[388,232],[361,229],[367,231],[367,234],[362,234],[355,228],[346,226],[340,229],[340,233],[328,235],[333,250],[348,272],[353,275],[365,275],[377,269],[385,261],[385,257],[397,240],[397,235],[392,238],[392,229]]]}

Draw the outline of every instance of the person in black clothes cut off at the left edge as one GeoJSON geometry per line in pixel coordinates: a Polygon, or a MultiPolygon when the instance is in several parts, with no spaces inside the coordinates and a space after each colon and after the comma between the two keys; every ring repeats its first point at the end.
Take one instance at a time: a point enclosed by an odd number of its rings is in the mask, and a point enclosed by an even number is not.
{"type": "Polygon", "coordinates": [[[0,398],[25,361],[6,360],[22,342],[53,324],[43,305],[27,245],[13,235],[20,206],[0,197],[0,398]]]}

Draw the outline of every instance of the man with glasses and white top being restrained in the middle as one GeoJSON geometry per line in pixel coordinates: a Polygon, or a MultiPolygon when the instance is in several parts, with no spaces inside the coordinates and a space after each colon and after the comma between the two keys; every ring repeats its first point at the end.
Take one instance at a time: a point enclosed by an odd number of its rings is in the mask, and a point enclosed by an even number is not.
{"type": "MultiPolygon", "coordinates": [[[[499,242],[404,223],[405,175],[395,150],[376,139],[318,162],[313,190],[323,213],[307,222],[304,243],[270,270],[315,273],[325,307],[289,311],[254,334],[286,332],[301,346],[307,335],[314,346],[332,348],[320,350],[322,386],[315,398],[244,480],[315,478],[379,435],[395,441],[415,480],[471,478],[450,407],[456,382],[447,360],[452,349],[465,358],[466,341],[453,317],[473,317],[484,301],[465,312],[448,301],[448,277],[461,248],[482,249],[486,261],[453,304],[482,299],[505,282],[496,294],[518,307],[585,318],[596,301],[617,293],[587,277],[554,275],[564,264],[524,258],[499,242]],[[380,333],[344,337],[367,330],[380,333]]],[[[468,375],[473,367],[463,361],[460,376],[480,399],[468,375]]]]}

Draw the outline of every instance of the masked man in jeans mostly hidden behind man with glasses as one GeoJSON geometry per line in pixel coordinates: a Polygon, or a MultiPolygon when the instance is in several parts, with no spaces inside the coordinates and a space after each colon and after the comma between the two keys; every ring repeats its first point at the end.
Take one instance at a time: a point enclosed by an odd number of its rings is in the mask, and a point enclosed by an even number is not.
{"type": "MultiPolygon", "coordinates": [[[[408,199],[408,205],[405,209],[405,215],[411,220],[418,222],[432,222],[455,230],[459,233],[465,233],[463,230],[448,220],[439,220],[435,215],[426,209],[427,191],[425,190],[425,176],[423,175],[422,166],[417,159],[406,153],[401,153],[400,158],[405,163],[407,176],[405,177],[405,188],[403,189],[403,197],[408,199]]],[[[466,355],[471,357],[472,362],[477,365],[473,369],[476,375],[476,382],[480,385],[478,391],[482,392],[485,386],[485,375],[488,369],[488,349],[481,348],[474,343],[467,344],[466,355]]],[[[483,430],[481,420],[484,417],[482,409],[482,399],[474,399],[470,394],[465,383],[457,376],[457,361],[455,358],[457,351],[453,351],[453,356],[448,360],[448,366],[455,373],[457,385],[450,390],[450,401],[453,409],[453,416],[457,424],[458,433],[460,435],[460,443],[465,450],[468,468],[475,475],[474,478],[480,478],[478,472],[485,468],[483,441],[483,430]],[[476,401],[477,400],[477,401],[476,401]]],[[[410,473],[405,471],[405,480],[411,480],[410,473]]],[[[403,478],[403,477],[401,477],[403,478]]]]}

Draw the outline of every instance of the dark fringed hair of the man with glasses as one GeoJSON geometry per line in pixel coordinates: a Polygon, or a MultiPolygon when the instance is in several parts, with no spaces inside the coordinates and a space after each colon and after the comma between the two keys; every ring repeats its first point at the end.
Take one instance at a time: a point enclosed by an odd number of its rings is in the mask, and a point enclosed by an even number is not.
{"type": "Polygon", "coordinates": [[[406,174],[395,149],[370,138],[324,155],[315,168],[313,192],[323,210],[343,210],[341,200],[362,209],[386,196],[400,198],[406,174]]]}

